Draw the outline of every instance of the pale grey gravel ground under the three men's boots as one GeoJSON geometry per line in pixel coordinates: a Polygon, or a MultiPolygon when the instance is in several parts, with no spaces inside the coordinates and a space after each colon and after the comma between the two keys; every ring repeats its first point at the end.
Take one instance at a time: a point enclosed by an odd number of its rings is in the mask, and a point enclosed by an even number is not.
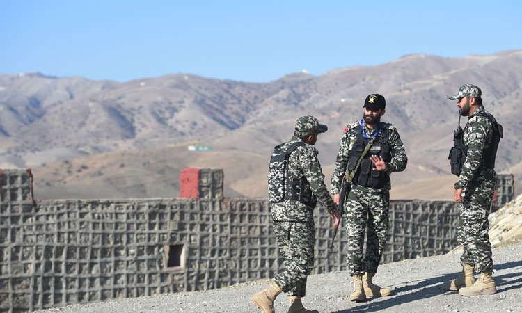
{"type": "MultiPolygon", "coordinates": [[[[493,249],[497,294],[464,297],[445,291],[441,283],[454,278],[459,255],[409,259],[379,266],[374,282],[390,287],[394,296],[351,303],[347,271],[311,275],[303,305],[319,312],[522,312],[522,241],[493,249]]],[[[236,284],[209,291],[161,294],[102,303],[70,305],[38,312],[258,312],[250,297],[269,280],[236,284]]],[[[287,312],[287,296],[276,299],[276,312],[287,312]]]]}

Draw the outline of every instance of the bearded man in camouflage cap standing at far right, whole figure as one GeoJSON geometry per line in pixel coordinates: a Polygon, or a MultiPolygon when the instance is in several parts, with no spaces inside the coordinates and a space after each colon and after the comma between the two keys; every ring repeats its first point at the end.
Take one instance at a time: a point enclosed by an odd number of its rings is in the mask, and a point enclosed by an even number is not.
{"type": "Polygon", "coordinates": [[[477,86],[463,85],[449,99],[458,100],[460,115],[468,117],[464,131],[460,125],[455,131],[450,151],[452,173],[459,176],[453,198],[460,203],[457,236],[464,253],[462,272],[443,287],[458,290],[462,296],[495,294],[488,216],[496,190],[495,157],[503,129],[482,106],[482,90],[477,86]],[[473,270],[480,273],[477,280],[473,270]]]}

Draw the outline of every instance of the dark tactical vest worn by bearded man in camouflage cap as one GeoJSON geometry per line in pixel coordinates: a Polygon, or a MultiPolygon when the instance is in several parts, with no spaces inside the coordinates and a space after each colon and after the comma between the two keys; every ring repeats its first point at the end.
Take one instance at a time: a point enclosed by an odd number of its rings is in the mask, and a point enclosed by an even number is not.
{"type": "MultiPolygon", "coordinates": [[[[493,125],[493,138],[491,138],[491,144],[489,145],[486,152],[484,152],[484,162],[482,162],[481,166],[486,168],[495,168],[495,159],[498,150],[498,143],[500,142],[500,138],[503,138],[503,127],[498,124],[498,122],[493,118],[493,115],[490,115],[485,112],[479,112],[475,114],[475,116],[483,116],[487,118],[489,122],[493,125]]],[[[460,124],[460,123],[459,123],[460,124]]],[[[466,124],[466,127],[468,125],[466,124]]],[[[466,161],[466,157],[468,156],[468,147],[464,145],[464,130],[460,127],[453,132],[453,147],[450,150],[450,155],[448,159],[450,160],[451,173],[457,176],[460,176],[462,171],[462,166],[464,166],[464,162],[466,161]]]]}

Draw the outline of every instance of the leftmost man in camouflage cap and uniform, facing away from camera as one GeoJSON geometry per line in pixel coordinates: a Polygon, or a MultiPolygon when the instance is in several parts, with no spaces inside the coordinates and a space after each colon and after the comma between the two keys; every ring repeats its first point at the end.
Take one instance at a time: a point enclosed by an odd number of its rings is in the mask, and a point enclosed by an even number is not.
{"type": "MultiPolygon", "coordinates": [[[[317,312],[306,310],[301,303],[307,276],[314,265],[313,209],[317,200],[332,218],[339,218],[337,206],[324,184],[324,175],[317,159],[319,152],[313,147],[317,136],[327,129],[326,125],[319,124],[317,118],[303,116],[296,121],[292,139],[278,146],[286,148],[298,144],[288,157],[288,177],[284,188],[279,190],[286,195],[280,202],[270,203],[272,225],[286,269],[276,275],[267,289],[253,296],[253,303],[262,312],[274,312],[274,300],[281,292],[290,296],[288,312],[317,312]]],[[[270,191],[269,177],[269,198],[270,191]]]]}

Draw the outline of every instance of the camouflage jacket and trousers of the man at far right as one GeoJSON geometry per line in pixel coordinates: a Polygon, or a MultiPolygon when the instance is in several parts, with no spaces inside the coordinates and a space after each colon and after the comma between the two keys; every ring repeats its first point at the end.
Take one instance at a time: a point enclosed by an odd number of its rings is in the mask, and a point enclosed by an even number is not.
{"type": "Polygon", "coordinates": [[[455,189],[464,189],[457,233],[459,242],[464,245],[461,260],[475,266],[477,272],[493,270],[488,216],[496,190],[496,172],[484,166],[484,152],[491,145],[494,127],[487,118],[476,115],[480,112],[489,114],[484,106],[479,106],[464,127],[462,138],[468,155],[454,185],[455,189]]]}

